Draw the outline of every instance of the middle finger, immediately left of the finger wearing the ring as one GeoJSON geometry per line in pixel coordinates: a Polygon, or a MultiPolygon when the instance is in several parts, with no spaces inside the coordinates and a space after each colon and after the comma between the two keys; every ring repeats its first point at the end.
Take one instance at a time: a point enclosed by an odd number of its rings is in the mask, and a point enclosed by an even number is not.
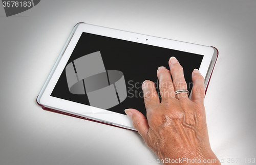
{"type": "Polygon", "coordinates": [[[159,91],[162,101],[168,98],[174,98],[174,86],[170,71],[163,66],[159,67],[157,69],[157,77],[159,79],[159,91]]]}

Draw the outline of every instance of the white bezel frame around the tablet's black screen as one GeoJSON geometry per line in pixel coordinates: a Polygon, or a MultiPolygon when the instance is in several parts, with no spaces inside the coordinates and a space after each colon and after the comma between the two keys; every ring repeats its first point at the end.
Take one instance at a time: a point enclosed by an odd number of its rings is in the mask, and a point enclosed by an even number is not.
{"type": "MultiPolygon", "coordinates": [[[[216,58],[214,57],[214,54],[216,54],[216,50],[213,47],[191,44],[191,43],[175,41],[175,40],[169,40],[164,38],[158,38],[153,36],[147,36],[147,35],[120,31],[120,30],[115,30],[110,28],[104,28],[101,26],[96,26],[96,25],[91,25],[86,23],[78,23],[73,29],[66,45],[61,51],[60,56],[46,81],[46,84],[41,90],[37,99],[38,103],[44,105],[45,107],[56,109],[57,111],[81,116],[84,118],[89,118],[92,120],[96,120],[96,121],[100,121],[108,124],[113,124],[119,127],[124,127],[132,130],[135,130],[135,129],[133,127],[131,120],[126,115],[50,96],[58,81],[60,74],[65,68],[83,32],[147,44],[147,45],[154,45],[158,47],[175,49],[175,50],[180,50],[180,51],[185,51],[185,52],[190,52],[195,54],[201,54],[203,55],[203,60],[199,70],[201,74],[204,76],[204,78],[206,77],[207,73],[208,74],[209,72],[211,73],[213,69],[211,68],[212,61],[216,60],[217,58],[217,57],[216,58]]],[[[205,79],[207,79],[207,77],[205,79]]],[[[207,84],[208,84],[208,80],[205,83],[205,85],[207,84]]]]}

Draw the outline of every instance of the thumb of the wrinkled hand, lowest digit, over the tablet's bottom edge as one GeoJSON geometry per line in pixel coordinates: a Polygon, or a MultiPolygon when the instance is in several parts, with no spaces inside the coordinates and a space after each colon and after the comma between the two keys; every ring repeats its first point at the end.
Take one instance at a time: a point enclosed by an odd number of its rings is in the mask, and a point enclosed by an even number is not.
{"type": "Polygon", "coordinates": [[[147,119],[136,109],[125,109],[125,114],[132,120],[134,128],[139,134],[146,140],[147,132],[150,126],[148,126],[147,119]]]}

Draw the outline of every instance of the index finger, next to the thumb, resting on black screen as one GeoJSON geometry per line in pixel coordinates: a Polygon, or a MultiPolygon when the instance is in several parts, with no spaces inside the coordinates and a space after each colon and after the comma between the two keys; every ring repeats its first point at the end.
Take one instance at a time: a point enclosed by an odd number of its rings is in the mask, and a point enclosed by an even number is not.
{"type": "Polygon", "coordinates": [[[144,103],[146,107],[146,111],[150,111],[153,107],[160,103],[156,85],[154,82],[150,80],[145,80],[142,84],[144,103]]]}

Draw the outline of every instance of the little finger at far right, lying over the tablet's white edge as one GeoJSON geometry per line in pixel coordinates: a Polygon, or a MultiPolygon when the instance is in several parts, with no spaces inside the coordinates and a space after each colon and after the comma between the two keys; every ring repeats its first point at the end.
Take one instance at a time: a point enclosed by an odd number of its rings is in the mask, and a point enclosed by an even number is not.
{"type": "Polygon", "coordinates": [[[193,90],[191,100],[194,102],[204,102],[204,77],[198,69],[192,72],[193,90]]]}

